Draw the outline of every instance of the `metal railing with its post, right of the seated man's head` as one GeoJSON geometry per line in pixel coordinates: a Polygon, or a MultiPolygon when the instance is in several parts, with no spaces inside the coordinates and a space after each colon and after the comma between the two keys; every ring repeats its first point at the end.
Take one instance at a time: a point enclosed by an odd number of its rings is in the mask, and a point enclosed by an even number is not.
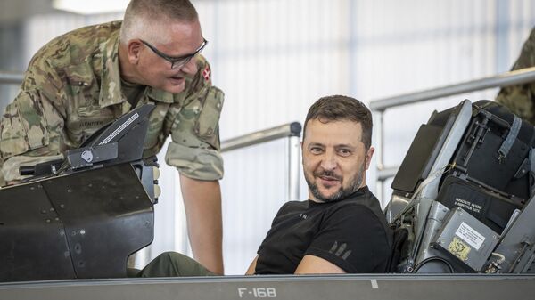
{"type": "Polygon", "coordinates": [[[374,113],[374,117],[378,119],[375,122],[375,133],[378,135],[377,149],[375,150],[376,164],[377,164],[377,185],[376,193],[379,199],[384,199],[384,181],[393,177],[397,172],[399,166],[384,166],[384,128],[383,128],[383,113],[386,109],[391,109],[401,105],[412,104],[416,102],[428,101],[447,96],[456,95],[459,93],[469,93],[489,89],[492,87],[504,87],[509,85],[522,85],[526,83],[535,82],[535,67],[518,69],[511,72],[498,74],[493,77],[484,77],[481,79],[462,82],[456,85],[446,85],[429,90],[424,90],[416,93],[406,93],[399,96],[383,98],[370,102],[370,109],[374,113]]]}

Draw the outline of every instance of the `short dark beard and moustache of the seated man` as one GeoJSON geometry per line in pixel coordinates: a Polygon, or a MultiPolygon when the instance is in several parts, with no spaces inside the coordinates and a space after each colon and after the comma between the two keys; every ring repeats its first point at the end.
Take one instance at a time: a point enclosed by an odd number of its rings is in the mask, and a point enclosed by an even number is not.
{"type": "Polygon", "coordinates": [[[360,170],[357,174],[357,178],[355,178],[355,180],[351,182],[349,187],[347,188],[344,188],[343,186],[340,187],[340,189],[336,191],[335,193],[333,193],[333,195],[331,195],[330,197],[324,197],[320,193],[319,189],[317,188],[315,179],[319,176],[333,177],[334,179],[341,181],[341,184],[342,184],[342,177],[334,174],[333,171],[319,171],[319,172],[314,172],[312,175],[313,177],[311,179],[308,176],[305,176],[305,181],[309,185],[309,190],[312,192],[312,195],[314,195],[314,197],[316,197],[317,200],[320,200],[322,202],[338,201],[340,199],[344,199],[350,196],[350,194],[354,193],[355,191],[358,191],[358,189],[360,188],[360,185],[362,184],[364,180],[364,164],[360,166],[360,170]]]}

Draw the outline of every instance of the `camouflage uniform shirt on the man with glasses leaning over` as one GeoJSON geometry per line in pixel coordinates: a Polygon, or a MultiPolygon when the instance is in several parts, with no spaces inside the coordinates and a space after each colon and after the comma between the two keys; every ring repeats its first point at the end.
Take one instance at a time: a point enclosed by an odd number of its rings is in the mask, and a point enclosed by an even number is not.
{"type": "MultiPolygon", "coordinates": [[[[58,36],[30,61],[21,92],[1,121],[5,181],[21,178],[19,166],[62,158],[64,150],[77,148],[131,109],[121,93],[120,24],[114,21],[58,36]]],[[[193,179],[218,180],[223,176],[218,120],[224,95],[211,85],[210,66],[200,55],[197,67],[197,74],[186,77],[182,93],[150,86],[141,93],[137,105],[155,104],[144,157],[158,153],[170,134],[165,157],[170,166],[193,179]]]]}

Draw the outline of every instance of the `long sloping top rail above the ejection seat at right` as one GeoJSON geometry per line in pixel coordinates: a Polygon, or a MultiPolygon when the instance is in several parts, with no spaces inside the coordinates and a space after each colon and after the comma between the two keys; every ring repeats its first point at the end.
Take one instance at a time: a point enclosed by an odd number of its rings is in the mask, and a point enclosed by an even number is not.
{"type": "Polygon", "coordinates": [[[481,79],[466,81],[456,85],[446,85],[432,88],[416,93],[406,93],[399,96],[383,98],[370,102],[370,109],[384,111],[399,105],[416,103],[426,100],[432,100],[447,97],[459,93],[468,93],[488,89],[491,87],[503,87],[509,85],[521,85],[535,81],[535,67],[518,69],[493,77],[483,77],[481,79]]]}

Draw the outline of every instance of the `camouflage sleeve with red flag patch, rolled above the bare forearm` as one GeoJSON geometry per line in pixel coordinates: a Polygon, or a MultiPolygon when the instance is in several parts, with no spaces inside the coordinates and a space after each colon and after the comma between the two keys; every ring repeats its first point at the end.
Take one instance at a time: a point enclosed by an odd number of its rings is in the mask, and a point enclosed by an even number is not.
{"type": "Polygon", "coordinates": [[[199,180],[223,178],[223,158],[219,153],[218,123],[224,93],[210,82],[210,66],[201,59],[193,88],[171,128],[166,153],[169,166],[199,180]]]}

